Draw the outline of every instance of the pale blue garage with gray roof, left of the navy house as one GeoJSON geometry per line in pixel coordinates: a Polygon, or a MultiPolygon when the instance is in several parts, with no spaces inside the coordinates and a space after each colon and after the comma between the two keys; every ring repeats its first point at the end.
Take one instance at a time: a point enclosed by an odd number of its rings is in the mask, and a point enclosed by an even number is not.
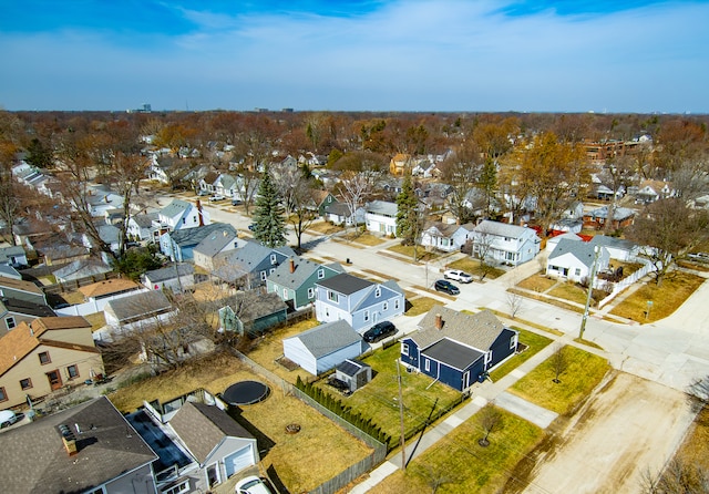
{"type": "Polygon", "coordinates": [[[362,337],[345,320],[327,322],[284,339],[284,357],[312,375],[359,357],[363,348],[362,337]]]}

